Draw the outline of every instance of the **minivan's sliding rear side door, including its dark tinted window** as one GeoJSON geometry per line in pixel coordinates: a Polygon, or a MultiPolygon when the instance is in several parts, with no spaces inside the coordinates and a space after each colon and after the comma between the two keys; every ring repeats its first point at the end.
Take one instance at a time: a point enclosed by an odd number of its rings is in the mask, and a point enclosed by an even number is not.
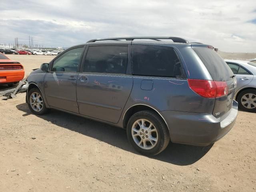
{"type": "Polygon", "coordinates": [[[118,122],[132,90],[130,57],[128,44],[88,46],[76,88],[80,114],[118,122]]]}

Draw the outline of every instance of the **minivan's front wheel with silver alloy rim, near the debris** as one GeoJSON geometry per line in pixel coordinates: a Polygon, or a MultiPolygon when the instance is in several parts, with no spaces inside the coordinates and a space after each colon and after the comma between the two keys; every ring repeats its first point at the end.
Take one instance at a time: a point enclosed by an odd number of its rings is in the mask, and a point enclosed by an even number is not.
{"type": "Polygon", "coordinates": [[[28,108],[32,113],[36,115],[43,115],[49,111],[49,109],[46,108],[42,93],[38,88],[32,88],[29,90],[27,101],[28,108]],[[35,98],[34,100],[32,99],[33,97],[35,98]],[[32,103],[34,103],[35,101],[37,102],[37,104],[33,105],[32,103]]]}

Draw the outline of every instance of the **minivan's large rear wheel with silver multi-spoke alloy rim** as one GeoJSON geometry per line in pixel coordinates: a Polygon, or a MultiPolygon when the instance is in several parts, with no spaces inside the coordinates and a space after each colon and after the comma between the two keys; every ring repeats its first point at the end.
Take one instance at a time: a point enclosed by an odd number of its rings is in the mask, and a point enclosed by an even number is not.
{"type": "Polygon", "coordinates": [[[168,146],[170,141],[166,124],[158,114],[150,110],[133,114],[128,121],[126,134],[135,150],[146,156],[159,154],[168,146]],[[144,127],[140,128],[138,123],[142,124],[142,120],[144,127]],[[150,123],[152,123],[151,128],[149,128],[150,123]],[[151,130],[151,134],[147,130],[151,130]],[[150,138],[152,138],[151,142],[149,141],[150,138]]]}

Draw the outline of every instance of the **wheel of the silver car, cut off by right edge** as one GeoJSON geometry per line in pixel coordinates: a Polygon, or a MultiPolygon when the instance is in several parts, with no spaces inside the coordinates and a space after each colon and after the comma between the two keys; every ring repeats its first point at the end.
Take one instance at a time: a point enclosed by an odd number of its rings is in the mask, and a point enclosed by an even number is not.
{"type": "Polygon", "coordinates": [[[256,112],[256,90],[248,89],[242,91],[237,98],[238,107],[248,112],[256,112]]]}

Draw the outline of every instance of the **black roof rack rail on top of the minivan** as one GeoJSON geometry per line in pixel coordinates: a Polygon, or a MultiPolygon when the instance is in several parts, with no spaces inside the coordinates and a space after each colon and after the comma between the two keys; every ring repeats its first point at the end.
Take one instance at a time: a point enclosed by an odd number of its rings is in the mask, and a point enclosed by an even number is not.
{"type": "Polygon", "coordinates": [[[188,43],[186,39],[180,38],[180,37],[115,37],[115,38],[102,38],[102,39],[92,39],[88,41],[87,43],[90,42],[96,42],[96,41],[105,41],[105,40],[114,40],[114,41],[119,41],[125,39],[126,41],[133,41],[134,39],[152,39],[156,41],[161,41],[160,39],[171,39],[175,43],[188,43]]]}

